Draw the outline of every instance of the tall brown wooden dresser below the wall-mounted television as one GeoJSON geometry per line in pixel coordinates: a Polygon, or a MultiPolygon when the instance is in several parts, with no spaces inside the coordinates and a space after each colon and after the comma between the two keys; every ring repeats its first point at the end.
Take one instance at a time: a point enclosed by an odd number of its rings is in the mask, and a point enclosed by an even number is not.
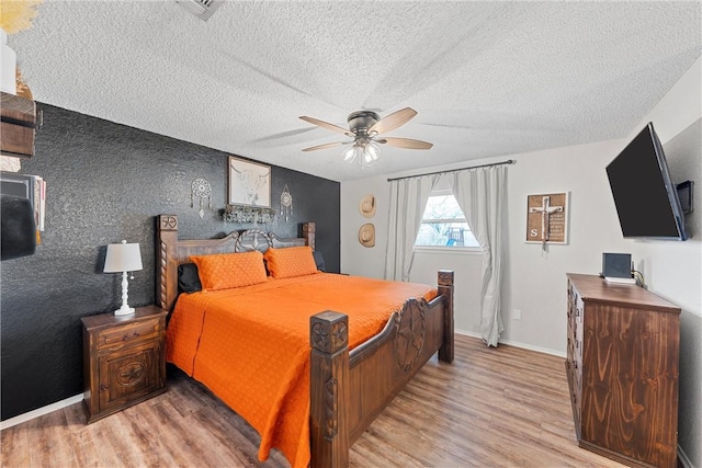
{"type": "Polygon", "coordinates": [[[567,278],[578,444],[630,466],[675,468],[680,309],[639,286],[567,278]]]}

